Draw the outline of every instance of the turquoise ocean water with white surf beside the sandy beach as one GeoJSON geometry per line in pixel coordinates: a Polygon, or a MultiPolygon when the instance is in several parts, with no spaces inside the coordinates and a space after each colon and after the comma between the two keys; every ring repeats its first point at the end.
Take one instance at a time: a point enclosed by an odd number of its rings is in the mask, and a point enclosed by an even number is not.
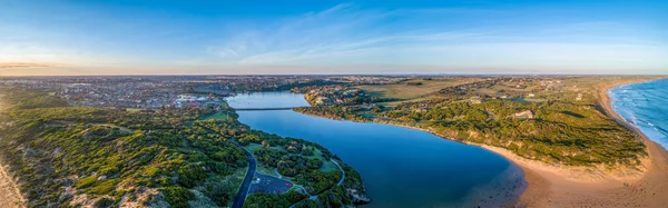
{"type": "Polygon", "coordinates": [[[619,116],[668,149],[668,79],[619,86],[608,96],[619,116]]]}

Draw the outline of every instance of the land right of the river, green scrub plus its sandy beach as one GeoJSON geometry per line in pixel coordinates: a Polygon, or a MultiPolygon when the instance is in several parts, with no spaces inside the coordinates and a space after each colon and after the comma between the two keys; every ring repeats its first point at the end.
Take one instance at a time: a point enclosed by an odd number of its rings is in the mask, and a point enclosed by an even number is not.
{"type": "Polygon", "coordinates": [[[494,151],[525,172],[519,205],[665,207],[656,196],[668,192],[667,151],[621,120],[607,96],[652,79],[415,78],[308,89],[313,107],[295,111],[416,128],[494,151]]]}

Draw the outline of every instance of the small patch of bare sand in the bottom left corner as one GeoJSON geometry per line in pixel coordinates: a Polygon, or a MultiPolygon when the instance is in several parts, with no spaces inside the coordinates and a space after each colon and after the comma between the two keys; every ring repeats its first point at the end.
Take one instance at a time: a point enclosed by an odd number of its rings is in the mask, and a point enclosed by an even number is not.
{"type": "MultiPolygon", "coordinates": [[[[7,108],[2,102],[3,96],[0,95],[0,111],[7,108]]],[[[0,159],[0,207],[19,208],[26,207],[26,199],[21,195],[17,181],[9,175],[4,162],[0,159]]]]}

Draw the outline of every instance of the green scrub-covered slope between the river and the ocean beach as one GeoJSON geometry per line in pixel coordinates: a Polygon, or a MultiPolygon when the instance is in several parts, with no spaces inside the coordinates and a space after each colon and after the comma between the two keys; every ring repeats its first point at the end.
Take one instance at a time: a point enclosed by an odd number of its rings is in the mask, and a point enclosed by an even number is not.
{"type": "MultiPolygon", "coordinates": [[[[524,85],[533,88],[541,81],[544,80],[529,79],[524,85]]],[[[635,169],[647,156],[638,136],[605,115],[586,90],[580,93],[563,89],[512,90],[500,88],[500,79],[489,79],[449,87],[432,99],[407,101],[392,108],[376,105],[296,110],[330,118],[416,127],[449,139],[501,147],[549,164],[635,169]],[[492,95],[484,93],[487,91],[492,95]],[[529,101],[527,95],[534,97],[534,91],[539,93],[534,99],[538,101],[529,101]],[[502,95],[510,96],[499,98],[502,95]]]]}

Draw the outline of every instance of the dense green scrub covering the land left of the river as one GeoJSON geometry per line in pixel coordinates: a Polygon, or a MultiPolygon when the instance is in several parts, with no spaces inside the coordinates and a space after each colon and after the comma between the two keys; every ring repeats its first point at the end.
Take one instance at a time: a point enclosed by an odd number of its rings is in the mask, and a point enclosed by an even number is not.
{"type": "MultiPolygon", "coordinates": [[[[266,146],[279,147],[276,151],[289,152],[273,167],[313,192],[325,191],[341,176],[338,171],[318,171],[323,161],[308,157],[315,150],[333,157],[323,147],[249,130],[228,107],[219,111],[71,107],[48,92],[3,90],[4,100],[12,102],[0,113],[0,156],[10,165],[10,172],[20,176],[29,207],[117,207],[121,201],[157,207],[213,201],[206,206],[227,207],[247,167],[244,151],[233,139],[240,143],[266,141],[266,146]],[[297,145],[301,148],[294,149],[297,145]]],[[[256,156],[269,151],[274,149],[258,149],[256,156]]],[[[361,180],[355,181],[363,191],[361,180]]],[[[304,198],[294,195],[267,200],[304,198]]],[[[250,199],[265,200],[262,198],[250,199]]]]}

